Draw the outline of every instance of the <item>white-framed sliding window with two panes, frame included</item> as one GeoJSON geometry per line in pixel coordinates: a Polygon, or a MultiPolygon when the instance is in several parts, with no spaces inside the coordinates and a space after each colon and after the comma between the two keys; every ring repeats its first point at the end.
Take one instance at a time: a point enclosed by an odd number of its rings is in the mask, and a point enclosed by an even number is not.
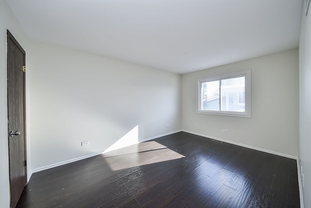
{"type": "Polygon", "coordinates": [[[251,117],[250,70],[197,81],[197,113],[251,117]]]}

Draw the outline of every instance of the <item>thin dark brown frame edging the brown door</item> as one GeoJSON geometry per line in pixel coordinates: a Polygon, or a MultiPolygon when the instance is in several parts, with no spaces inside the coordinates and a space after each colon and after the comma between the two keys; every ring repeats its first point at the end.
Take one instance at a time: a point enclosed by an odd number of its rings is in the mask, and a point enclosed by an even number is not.
{"type": "MultiPolygon", "coordinates": [[[[17,42],[17,40],[13,37],[13,35],[10,33],[9,30],[6,30],[6,34],[7,34],[7,44],[9,39],[11,39],[14,44],[17,46],[17,48],[22,52],[23,54],[23,66],[26,66],[26,52],[25,50],[21,47],[21,45],[17,42]]],[[[8,46],[7,46],[8,47],[8,46]]],[[[7,51],[8,53],[8,51],[7,51]]],[[[8,55],[7,55],[8,56],[8,55]]],[[[7,59],[7,73],[8,73],[8,59],[7,59]]],[[[6,81],[7,84],[7,96],[9,96],[9,92],[8,92],[8,79],[6,81]]],[[[7,119],[9,119],[9,101],[7,99],[7,119]]],[[[28,177],[27,177],[27,138],[26,138],[26,72],[23,73],[23,113],[24,113],[24,121],[23,121],[23,125],[24,125],[24,136],[23,136],[23,140],[24,140],[24,152],[25,152],[25,177],[26,177],[26,184],[28,182],[28,177]]],[[[8,157],[9,157],[9,182],[10,182],[10,207],[12,207],[12,192],[11,192],[11,168],[10,168],[10,147],[9,147],[9,122],[8,122],[8,157]]],[[[26,185],[25,184],[25,185],[26,185]]]]}

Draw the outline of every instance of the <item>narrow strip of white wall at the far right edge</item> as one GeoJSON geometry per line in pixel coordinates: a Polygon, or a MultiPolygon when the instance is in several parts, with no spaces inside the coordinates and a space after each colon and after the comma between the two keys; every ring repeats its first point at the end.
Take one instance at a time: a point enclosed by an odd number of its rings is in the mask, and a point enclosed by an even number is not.
{"type": "Polygon", "coordinates": [[[311,6],[302,16],[299,42],[299,157],[305,176],[304,207],[311,207],[311,6]]]}

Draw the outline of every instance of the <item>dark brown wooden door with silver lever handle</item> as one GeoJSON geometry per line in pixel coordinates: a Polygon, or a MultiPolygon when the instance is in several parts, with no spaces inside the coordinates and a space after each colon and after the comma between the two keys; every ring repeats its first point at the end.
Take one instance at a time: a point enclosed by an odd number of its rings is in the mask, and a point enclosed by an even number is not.
{"type": "Polygon", "coordinates": [[[25,51],[7,31],[8,139],[11,207],[26,183],[25,51]]]}

